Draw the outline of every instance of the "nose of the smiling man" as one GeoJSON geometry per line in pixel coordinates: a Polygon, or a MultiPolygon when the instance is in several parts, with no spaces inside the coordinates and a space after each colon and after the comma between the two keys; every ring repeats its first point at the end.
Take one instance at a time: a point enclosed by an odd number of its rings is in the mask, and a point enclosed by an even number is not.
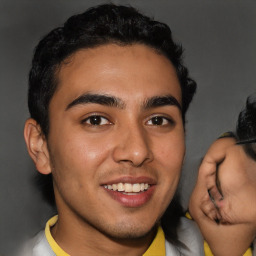
{"type": "Polygon", "coordinates": [[[153,160],[150,138],[142,127],[125,127],[118,137],[113,150],[115,162],[140,167],[153,160]]]}

